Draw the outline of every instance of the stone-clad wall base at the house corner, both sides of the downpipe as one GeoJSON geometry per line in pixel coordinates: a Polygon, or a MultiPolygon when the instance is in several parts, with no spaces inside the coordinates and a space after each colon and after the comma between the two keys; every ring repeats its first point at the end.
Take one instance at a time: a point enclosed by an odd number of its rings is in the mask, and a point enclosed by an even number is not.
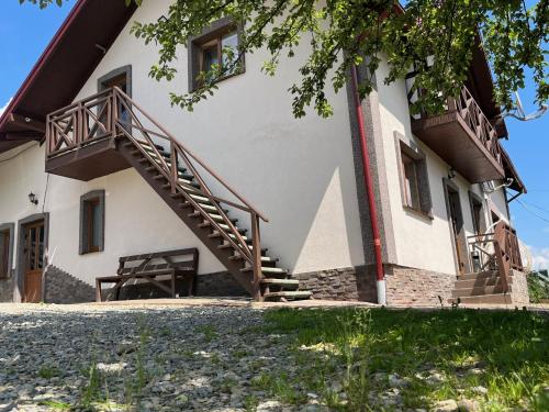
{"type": "MultiPolygon", "coordinates": [[[[439,305],[451,297],[455,275],[403,266],[384,265],[388,305],[439,305]]],[[[300,288],[311,290],[323,300],[358,300],[376,303],[376,267],[350,268],[296,274],[300,288]]]]}

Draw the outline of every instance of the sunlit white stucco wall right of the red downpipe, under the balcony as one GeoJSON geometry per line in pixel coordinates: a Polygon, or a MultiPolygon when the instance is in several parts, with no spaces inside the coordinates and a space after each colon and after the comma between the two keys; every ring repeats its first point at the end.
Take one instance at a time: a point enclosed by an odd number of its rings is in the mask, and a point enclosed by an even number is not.
{"type": "MultiPolygon", "coordinates": [[[[384,156],[389,186],[391,213],[395,233],[397,264],[414,268],[456,274],[455,246],[445,200],[442,179],[450,169],[439,156],[412,134],[406,87],[403,80],[384,85],[388,74],[386,64],[381,64],[378,78],[378,92],[382,123],[384,156]],[[402,205],[401,186],[394,132],[414,142],[426,155],[430,194],[433,200],[433,220],[407,211],[402,205]]],[[[479,185],[470,185],[462,176],[452,180],[459,188],[461,212],[467,236],[473,233],[469,190],[483,198],[479,185]]],[[[506,219],[505,198],[503,191],[492,193],[493,210],[506,219]]],[[[486,216],[489,209],[484,207],[486,216]]],[[[489,221],[486,221],[489,222],[489,221]]]]}

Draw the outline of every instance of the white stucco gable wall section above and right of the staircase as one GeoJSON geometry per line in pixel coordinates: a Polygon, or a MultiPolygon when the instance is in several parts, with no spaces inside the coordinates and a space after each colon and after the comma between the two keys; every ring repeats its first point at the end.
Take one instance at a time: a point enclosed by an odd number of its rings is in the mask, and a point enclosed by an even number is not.
{"type": "MultiPolygon", "coordinates": [[[[133,20],[156,21],[168,3],[146,2],[133,20]]],[[[244,75],[220,82],[215,96],[189,113],[168,98],[189,89],[187,49],[178,54],[179,75],[159,83],[148,77],[156,47],[131,35],[131,24],[77,99],[96,93],[101,76],[132,65],[133,99],[269,218],[262,243],[281,266],[305,272],[363,264],[345,90],[329,96],[332,119],[311,112],[295,120],[287,90],[299,78],[299,60],[282,62],[268,77],[260,73],[268,55],[255,53],[246,56],[244,75]]]]}

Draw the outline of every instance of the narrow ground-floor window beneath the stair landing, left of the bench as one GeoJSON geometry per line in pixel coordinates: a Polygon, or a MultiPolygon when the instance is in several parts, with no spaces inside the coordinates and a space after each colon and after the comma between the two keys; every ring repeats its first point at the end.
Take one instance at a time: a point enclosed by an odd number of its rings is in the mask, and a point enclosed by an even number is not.
{"type": "Polygon", "coordinates": [[[82,196],[80,200],[80,254],[104,249],[104,191],[82,196]]]}

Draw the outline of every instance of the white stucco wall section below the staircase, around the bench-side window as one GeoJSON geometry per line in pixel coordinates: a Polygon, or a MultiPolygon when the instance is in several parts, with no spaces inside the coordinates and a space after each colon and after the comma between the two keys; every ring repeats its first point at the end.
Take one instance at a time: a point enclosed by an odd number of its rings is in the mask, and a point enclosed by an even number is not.
{"type": "MultiPolygon", "coordinates": [[[[0,164],[0,224],[16,224],[19,220],[43,210],[48,212],[52,265],[94,285],[96,277],[115,272],[120,256],[199,247],[199,272],[224,270],[135,170],[127,169],[91,182],[52,175],[44,199],[47,180],[44,147],[36,144],[29,147],[26,151],[15,148],[0,157],[1,162],[24,151],[12,160],[0,164]],[[96,189],[105,190],[105,250],[81,256],[78,253],[80,197],[96,189]],[[37,196],[37,205],[29,201],[31,191],[37,196]]],[[[15,235],[19,238],[19,233],[15,235]]]]}

